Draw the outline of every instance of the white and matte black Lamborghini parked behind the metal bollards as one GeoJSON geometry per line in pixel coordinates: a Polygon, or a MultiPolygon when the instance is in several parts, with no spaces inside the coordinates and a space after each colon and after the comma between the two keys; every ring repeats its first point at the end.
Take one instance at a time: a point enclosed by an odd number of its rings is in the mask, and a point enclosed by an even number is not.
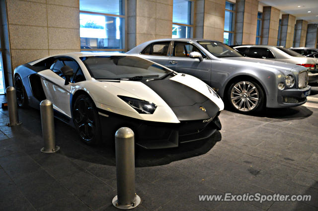
{"type": "Polygon", "coordinates": [[[69,53],[17,67],[19,106],[49,99],[57,118],[86,143],[113,140],[131,128],[146,148],[176,147],[221,130],[221,98],[196,77],[136,56],[69,53]]]}

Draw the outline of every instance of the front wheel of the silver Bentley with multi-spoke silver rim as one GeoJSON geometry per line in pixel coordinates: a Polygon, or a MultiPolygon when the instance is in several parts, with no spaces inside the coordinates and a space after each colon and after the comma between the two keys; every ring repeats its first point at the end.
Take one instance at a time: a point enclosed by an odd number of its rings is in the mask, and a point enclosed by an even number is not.
{"type": "Polygon", "coordinates": [[[230,105],[230,107],[239,113],[250,114],[254,112],[260,112],[265,107],[265,96],[263,89],[258,82],[249,78],[233,81],[227,90],[226,97],[227,103],[230,105]],[[239,87],[238,85],[241,86],[239,87]],[[245,86],[245,88],[243,88],[243,86],[245,86]],[[255,99],[258,100],[256,101],[255,99]]]}

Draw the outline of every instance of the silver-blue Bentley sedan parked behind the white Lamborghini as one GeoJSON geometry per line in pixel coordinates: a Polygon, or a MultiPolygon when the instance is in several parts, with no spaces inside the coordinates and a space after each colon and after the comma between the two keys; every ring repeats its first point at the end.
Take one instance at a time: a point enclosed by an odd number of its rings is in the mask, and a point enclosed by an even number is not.
{"type": "Polygon", "coordinates": [[[239,112],[302,105],[311,91],[307,68],[243,57],[219,41],[152,40],[136,46],[127,54],[139,55],[200,78],[239,112]]]}

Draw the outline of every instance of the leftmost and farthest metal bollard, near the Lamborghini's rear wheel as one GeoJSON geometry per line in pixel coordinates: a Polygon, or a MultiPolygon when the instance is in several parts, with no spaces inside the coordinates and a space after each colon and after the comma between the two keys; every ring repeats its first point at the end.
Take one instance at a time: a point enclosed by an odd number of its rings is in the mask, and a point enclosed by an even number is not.
{"type": "Polygon", "coordinates": [[[19,122],[18,108],[16,103],[16,91],[13,86],[9,86],[6,88],[6,99],[8,101],[8,112],[10,121],[7,126],[21,125],[21,122],[19,122]]]}

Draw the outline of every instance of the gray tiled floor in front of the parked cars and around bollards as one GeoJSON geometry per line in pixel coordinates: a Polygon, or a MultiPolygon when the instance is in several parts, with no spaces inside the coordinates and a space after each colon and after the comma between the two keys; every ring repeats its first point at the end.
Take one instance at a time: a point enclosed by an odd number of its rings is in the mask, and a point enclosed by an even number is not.
{"type": "MultiPolygon", "coordinates": [[[[0,109],[0,210],[116,210],[112,146],[87,146],[74,129],[55,120],[61,150],[43,154],[39,111],[19,109],[19,117],[23,124],[9,128],[7,110],[0,109]]],[[[136,210],[318,210],[318,108],[269,109],[262,116],[223,111],[220,119],[223,129],[212,139],[175,149],[136,149],[136,191],[142,198],[136,210]],[[306,194],[312,200],[198,199],[227,192],[306,194]]]]}

